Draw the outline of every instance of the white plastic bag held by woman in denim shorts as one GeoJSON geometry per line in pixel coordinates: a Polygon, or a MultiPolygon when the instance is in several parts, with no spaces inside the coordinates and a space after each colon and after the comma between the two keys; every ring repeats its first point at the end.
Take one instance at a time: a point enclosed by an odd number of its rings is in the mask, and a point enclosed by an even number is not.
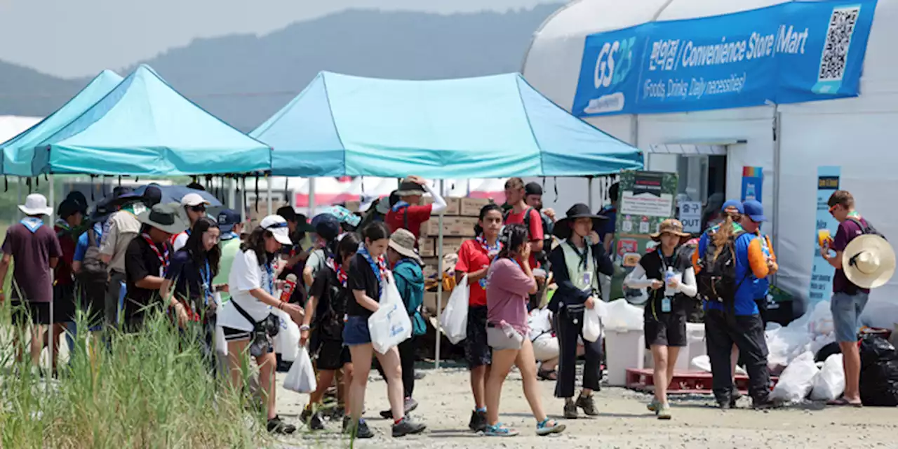
{"type": "Polygon", "coordinates": [[[374,350],[381,354],[411,337],[409,313],[389,272],[383,282],[380,308],[368,318],[368,330],[374,350]]]}

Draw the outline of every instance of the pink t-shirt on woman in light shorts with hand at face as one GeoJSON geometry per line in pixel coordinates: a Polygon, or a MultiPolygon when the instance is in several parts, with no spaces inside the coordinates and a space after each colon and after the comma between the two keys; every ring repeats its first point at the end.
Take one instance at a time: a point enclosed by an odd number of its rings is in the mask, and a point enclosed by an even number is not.
{"type": "Polygon", "coordinates": [[[515,260],[498,259],[487,278],[487,321],[496,327],[505,320],[521,335],[527,335],[527,298],[536,286],[515,260]]]}

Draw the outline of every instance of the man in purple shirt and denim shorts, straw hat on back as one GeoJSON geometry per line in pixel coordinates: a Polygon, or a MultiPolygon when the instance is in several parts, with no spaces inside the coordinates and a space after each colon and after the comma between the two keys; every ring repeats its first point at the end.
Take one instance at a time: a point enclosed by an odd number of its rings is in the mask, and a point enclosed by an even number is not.
{"type": "Polygon", "coordinates": [[[860,353],[858,324],[870,289],[885,285],[895,269],[892,246],[854,208],[847,190],[836,190],[827,204],[839,222],[832,244],[820,249],[832,265],[832,324],[844,358],[845,392],[829,405],[860,407],[860,353]],[[834,254],[832,253],[834,251],[834,254]]]}

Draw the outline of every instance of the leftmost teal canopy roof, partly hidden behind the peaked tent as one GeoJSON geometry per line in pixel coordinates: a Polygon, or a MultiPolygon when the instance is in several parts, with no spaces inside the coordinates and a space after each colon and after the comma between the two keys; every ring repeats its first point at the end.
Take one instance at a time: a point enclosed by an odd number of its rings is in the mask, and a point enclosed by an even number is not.
{"type": "Polygon", "coordinates": [[[0,145],[3,149],[3,174],[33,176],[35,173],[31,172],[31,160],[34,159],[34,145],[81,116],[85,110],[115,89],[121,79],[119,74],[103,70],[56,112],[0,145]]]}

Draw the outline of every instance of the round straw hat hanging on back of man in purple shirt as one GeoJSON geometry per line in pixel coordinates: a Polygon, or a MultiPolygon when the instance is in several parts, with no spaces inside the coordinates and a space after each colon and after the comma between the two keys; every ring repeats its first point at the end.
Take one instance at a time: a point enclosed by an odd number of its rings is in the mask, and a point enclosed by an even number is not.
{"type": "Polygon", "coordinates": [[[858,235],[842,251],[842,269],[856,286],[884,286],[895,272],[895,251],[879,235],[858,235]]]}

